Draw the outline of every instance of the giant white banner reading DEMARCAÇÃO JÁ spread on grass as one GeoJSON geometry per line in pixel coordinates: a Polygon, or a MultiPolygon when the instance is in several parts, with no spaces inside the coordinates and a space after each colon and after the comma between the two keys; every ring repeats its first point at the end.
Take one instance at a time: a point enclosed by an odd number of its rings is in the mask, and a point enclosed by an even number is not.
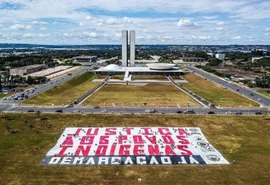
{"type": "Polygon", "coordinates": [[[228,164],[200,128],[66,128],[45,165],[228,164]]]}

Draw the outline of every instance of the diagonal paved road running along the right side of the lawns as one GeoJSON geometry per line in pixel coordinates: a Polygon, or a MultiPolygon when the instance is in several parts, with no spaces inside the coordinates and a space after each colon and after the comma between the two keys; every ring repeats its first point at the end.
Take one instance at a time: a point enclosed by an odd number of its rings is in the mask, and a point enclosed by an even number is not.
{"type": "Polygon", "coordinates": [[[203,71],[201,69],[198,69],[196,67],[187,67],[187,69],[189,69],[191,72],[194,72],[195,74],[209,80],[212,81],[214,83],[217,83],[227,89],[230,89],[233,92],[236,92],[242,96],[245,96],[253,101],[258,102],[260,105],[264,106],[264,107],[270,107],[270,99],[266,98],[265,96],[262,96],[258,93],[256,93],[255,91],[253,91],[250,88],[247,87],[242,87],[238,84],[235,84],[231,81],[226,81],[224,79],[219,78],[216,75],[210,74],[206,71],[203,71]]]}

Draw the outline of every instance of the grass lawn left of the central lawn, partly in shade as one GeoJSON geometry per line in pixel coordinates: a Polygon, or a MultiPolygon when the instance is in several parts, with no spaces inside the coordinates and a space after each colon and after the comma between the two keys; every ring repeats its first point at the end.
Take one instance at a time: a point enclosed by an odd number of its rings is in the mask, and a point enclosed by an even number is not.
{"type": "Polygon", "coordinates": [[[43,92],[24,104],[35,105],[67,105],[82,96],[88,90],[94,88],[97,84],[91,82],[95,78],[94,73],[87,72],[80,76],[59,85],[53,89],[43,92]]]}

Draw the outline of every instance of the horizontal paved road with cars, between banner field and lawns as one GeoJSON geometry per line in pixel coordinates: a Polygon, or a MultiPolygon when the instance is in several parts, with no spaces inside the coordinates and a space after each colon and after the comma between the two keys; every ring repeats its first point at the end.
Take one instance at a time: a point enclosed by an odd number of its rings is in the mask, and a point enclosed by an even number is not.
{"type": "MultiPolygon", "coordinates": [[[[153,108],[147,107],[37,107],[37,106],[12,106],[4,112],[28,113],[28,112],[43,112],[43,113],[77,113],[77,114],[149,114],[149,110],[153,108]],[[146,111],[147,110],[147,111],[146,111]]],[[[210,108],[177,108],[163,107],[155,108],[151,114],[185,114],[186,111],[194,111],[195,114],[219,114],[219,115],[236,115],[246,114],[255,115],[259,113],[268,114],[267,109],[263,108],[226,108],[226,109],[210,109],[210,108]],[[180,112],[181,111],[181,112],[180,112]]],[[[192,113],[190,113],[192,114],[192,113]]]]}

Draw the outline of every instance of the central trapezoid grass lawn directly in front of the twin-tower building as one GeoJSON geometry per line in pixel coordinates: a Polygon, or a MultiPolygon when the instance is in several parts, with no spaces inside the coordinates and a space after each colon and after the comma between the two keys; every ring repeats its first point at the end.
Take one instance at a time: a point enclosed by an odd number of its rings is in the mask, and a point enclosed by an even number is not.
{"type": "Polygon", "coordinates": [[[117,106],[200,106],[171,84],[107,85],[84,102],[91,106],[104,106],[104,103],[107,106],[112,103],[117,106]]]}

